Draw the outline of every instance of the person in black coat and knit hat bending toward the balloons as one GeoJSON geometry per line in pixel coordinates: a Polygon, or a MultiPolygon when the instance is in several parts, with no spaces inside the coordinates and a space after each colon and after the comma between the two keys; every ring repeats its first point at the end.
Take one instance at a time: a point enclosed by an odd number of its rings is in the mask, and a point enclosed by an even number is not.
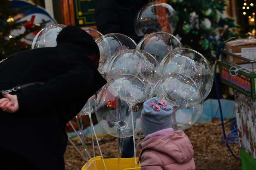
{"type": "Polygon", "coordinates": [[[0,90],[21,87],[0,97],[0,169],[64,170],[66,123],[106,83],[88,33],[70,25],[56,41],[0,65],[0,90]]]}

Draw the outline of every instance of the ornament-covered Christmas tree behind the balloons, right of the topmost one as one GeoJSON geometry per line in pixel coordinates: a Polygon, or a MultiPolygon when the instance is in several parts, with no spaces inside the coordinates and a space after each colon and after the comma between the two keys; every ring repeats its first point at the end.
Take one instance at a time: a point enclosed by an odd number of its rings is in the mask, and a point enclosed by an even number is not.
{"type": "Polygon", "coordinates": [[[182,44],[203,54],[212,64],[216,46],[234,36],[234,19],[224,12],[225,0],[166,0],[176,11],[178,26],[174,35],[182,44]]]}

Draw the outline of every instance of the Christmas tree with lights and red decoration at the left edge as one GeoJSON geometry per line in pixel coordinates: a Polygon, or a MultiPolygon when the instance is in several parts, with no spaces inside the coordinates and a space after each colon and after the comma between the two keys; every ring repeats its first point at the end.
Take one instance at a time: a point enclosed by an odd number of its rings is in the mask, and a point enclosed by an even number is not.
{"type": "MultiPolygon", "coordinates": [[[[11,1],[2,0],[0,6],[0,60],[15,54],[17,52],[28,50],[31,45],[26,44],[21,39],[33,31],[38,31],[42,27],[45,27],[45,23],[48,21],[43,21],[40,24],[33,24],[34,17],[30,21],[15,22],[15,19],[19,14],[23,13],[24,9],[9,8],[11,1]],[[26,31],[20,35],[11,35],[11,31],[15,29],[20,29],[25,26],[26,31]]],[[[34,8],[35,6],[30,6],[28,8],[34,8]]]]}

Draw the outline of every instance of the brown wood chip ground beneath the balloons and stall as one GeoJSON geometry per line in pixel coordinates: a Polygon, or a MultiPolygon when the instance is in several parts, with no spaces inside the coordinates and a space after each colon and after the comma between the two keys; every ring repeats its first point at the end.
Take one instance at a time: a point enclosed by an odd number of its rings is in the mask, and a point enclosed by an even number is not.
{"type": "MultiPolygon", "coordinates": [[[[225,120],[226,135],[230,133],[230,123],[232,120],[225,120]]],[[[194,160],[197,170],[241,170],[241,161],[236,160],[228,151],[227,146],[221,141],[223,137],[221,121],[214,119],[209,122],[196,123],[184,131],[188,135],[194,147],[194,160]],[[208,137],[209,136],[209,137],[208,137]],[[207,140],[208,139],[208,140],[207,140]]],[[[104,158],[117,157],[117,140],[115,137],[107,135],[98,138],[104,158]]],[[[85,138],[86,148],[93,157],[91,140],[85,138]]],[[[80,151],[83,146],[80,141],[73,140],[80,151]]],[[[236,141],[238,142],[238,141],[236,141]]],[[[239,145],[230,144],[231,150],[240,158],[239,145]]],[[[137,156],[140,150],[137,151],[137,156]]],[[[98,147],[95,145],[96,156],[100,155],[98,147]]],[[[64,155],[66,170],[80,170],[85,161],[74,146],[68,142],[64,155]]]]}

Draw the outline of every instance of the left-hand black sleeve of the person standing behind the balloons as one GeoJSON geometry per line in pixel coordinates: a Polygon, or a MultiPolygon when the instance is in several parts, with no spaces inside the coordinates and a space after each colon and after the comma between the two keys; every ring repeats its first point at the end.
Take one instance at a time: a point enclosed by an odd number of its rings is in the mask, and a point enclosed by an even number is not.
{"type": "Polygon", "coordinates": [[[120,33],[117,7],[111,1],[100,1],[95,11],[97,29],[103,34],[120,33]]]}

